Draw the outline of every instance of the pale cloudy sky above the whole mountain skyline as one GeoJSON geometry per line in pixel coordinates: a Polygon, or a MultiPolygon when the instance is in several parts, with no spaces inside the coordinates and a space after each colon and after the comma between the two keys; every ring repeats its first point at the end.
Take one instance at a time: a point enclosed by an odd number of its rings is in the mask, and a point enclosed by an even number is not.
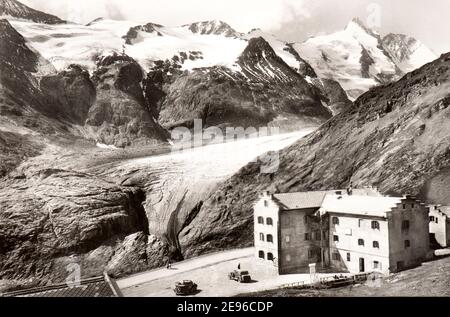
{"type": "Polygon", "coordinates": [[[223,20],[241,32],[260,28],[287,41],[341,30],[359,17],[382,34],[405,33],[437,54],[450,51],[448,0],[22,0],[70,21],[97,17],[180,25],[223,20]]]}

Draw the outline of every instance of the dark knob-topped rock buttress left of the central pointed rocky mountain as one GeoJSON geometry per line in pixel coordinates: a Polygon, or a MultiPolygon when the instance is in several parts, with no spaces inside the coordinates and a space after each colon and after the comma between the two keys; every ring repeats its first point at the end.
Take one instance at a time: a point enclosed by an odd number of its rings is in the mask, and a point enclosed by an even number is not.
{"type": "Polygon", "coordinates": [[[99,62],[92,78],[97,98],[86,120],[97,141],[126,147],[167,140],[168,133],[155,121],[144,98],[143,76],[139,64],[126,55],[99,62]]]}

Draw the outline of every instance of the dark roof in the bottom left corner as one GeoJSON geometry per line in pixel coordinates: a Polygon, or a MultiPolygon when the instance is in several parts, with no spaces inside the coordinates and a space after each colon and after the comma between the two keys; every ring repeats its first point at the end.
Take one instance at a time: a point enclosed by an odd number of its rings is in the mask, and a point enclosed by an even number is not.
{"type": "Polygon", "coordinates": [[[0,297],[122,297],[114,280],[106,274],[77,284],[57,284],[0,294],[0,297]]]}

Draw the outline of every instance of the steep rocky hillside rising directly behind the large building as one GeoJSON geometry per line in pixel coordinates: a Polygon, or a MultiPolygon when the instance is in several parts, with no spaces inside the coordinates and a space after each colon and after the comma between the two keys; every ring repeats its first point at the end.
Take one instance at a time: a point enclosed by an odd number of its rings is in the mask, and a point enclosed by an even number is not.
{"type": "Polygon", "coordinates": [[[205,201],[180,231],[185,257],[251,245],[252,203],[262,190],[283,192],[372,185],[448,204],[450,53],[374,88],[354,108],[281,151],[279,170],[251,163],[205,201]],[[447,190],[445,190],[445,188],[447,190]]]}

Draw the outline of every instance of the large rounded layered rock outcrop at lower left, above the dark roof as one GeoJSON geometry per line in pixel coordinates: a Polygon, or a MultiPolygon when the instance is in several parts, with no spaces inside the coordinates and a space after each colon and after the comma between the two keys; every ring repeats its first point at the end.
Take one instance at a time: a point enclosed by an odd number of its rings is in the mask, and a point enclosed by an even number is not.
{"type": "Polygon", "coordinates": [[[82,276],[104,269],[123,276],[168,256],[148,235],[138,188],[73,171],[26,170],[2,183],[0,197],[0,279],[61,281],[73,263],[82,276]]]}

